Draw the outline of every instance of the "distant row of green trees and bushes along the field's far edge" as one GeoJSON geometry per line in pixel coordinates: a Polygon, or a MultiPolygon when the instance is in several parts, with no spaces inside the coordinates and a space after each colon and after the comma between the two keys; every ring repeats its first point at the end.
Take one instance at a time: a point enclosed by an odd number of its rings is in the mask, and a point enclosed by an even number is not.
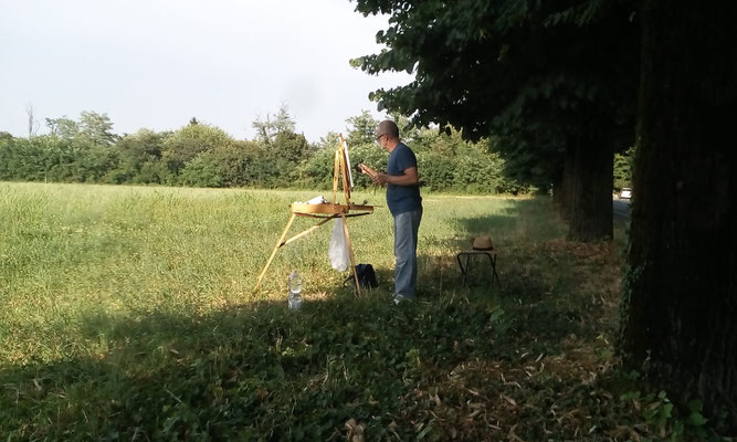
{"type": "MultiPolygon", "coordinates": [[[[347,120],[354,164],[386,166],[388,154],[373,139],[377,124],[368,112],[347,120]]],[[[46,126],[50,134],[28,138],[0,133],[0,180],[327,189],[338,145],[336,133],[308,143],[284,107],[253,122],[252,140],[234,139],[196,118],[175,131],[126,135],[115,134],[107,115],[94,112],[76,120],[46,118],[46,126]]],[[[515,194],[533,189],[508,173],[486,140],[467,143],[456,131],[436,128],[408,129],[402,138],[418,156],[427,189],[515,194]]],[[[355,181],[369,186],[364,176],[355,181]]]]}

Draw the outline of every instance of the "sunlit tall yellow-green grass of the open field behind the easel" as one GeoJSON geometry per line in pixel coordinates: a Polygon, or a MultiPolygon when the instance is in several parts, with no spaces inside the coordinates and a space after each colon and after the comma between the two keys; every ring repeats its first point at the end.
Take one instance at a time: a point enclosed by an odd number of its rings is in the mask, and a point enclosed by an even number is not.
{"type": "MultiPolygon", "coordinates": [[[[262,287],[252,293],[288,220],[288,204],[312,197],[304,191],[0,185],[0,293],[7,299],[0,311],[0,361],[50,361],[82,350],[85,345],[76,341],[81,317],[202,314],[281,302],[291,269],[303,275],[307,302],[335,293],[348,273],[329,266],[331,224],[281,249],[262,287]]],[[[383,278],[383,291],[368,296],[382,298],[391,288],[391,215],[380,192],[352,199],[379,206],[371,215],[350,219],[349,228],[357,262],[373,264],[383,278]]],[[[453,254],[475,234],[492,234],[502,250],[529,241],[530,232],[559,234],[555,220],[518,217],[525,203],[427,196],[420,291],[456,288],[455,274],[444,275],[451,281],[441,285],[440,271],[452,267],[453,254]]],[[[297,218],[291,231],[314,223],[297,218]]]]}

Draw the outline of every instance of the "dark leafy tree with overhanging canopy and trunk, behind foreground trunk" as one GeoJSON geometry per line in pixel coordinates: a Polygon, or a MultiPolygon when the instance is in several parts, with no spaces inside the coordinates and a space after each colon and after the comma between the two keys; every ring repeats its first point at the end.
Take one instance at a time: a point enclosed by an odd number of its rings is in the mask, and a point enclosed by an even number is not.
{"type": "Polygon", "coordinates": [[[377,34],[388,49],[352,64],[414,75],[376,91],[380,108],[493,139],[510,179],[541,188],[573,180],[569,235],[611,238],[612,156],[632,145],[634,127],[632,1],[357,0],[357,10],[390,14],[377,34]]]}

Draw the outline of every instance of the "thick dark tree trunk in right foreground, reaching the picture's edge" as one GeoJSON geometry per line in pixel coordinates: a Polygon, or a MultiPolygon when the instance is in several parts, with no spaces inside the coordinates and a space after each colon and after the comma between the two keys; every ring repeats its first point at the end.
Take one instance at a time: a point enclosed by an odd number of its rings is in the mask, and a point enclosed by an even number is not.
{"type": "Polygon", "coordinates": [[[737,2],[646,0],[642,19],[620,349],[671,399],[735,410],[737,2]]]}

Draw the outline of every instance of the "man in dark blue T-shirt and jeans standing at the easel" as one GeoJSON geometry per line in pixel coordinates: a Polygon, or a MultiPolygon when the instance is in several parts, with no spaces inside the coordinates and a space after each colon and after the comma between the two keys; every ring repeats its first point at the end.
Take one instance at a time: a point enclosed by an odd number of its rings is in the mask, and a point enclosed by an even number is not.
{"type": "Polygon", "coordinates": [[[417,243],[422,198],[414,152],[399,140],[399,128],[391,120],[379,123],[376,140],[389,151],[387,173],[375,173],[371,180],[387,185],[387,206],[394,218],[394,303],[413,299],[417,291],[417,243]]]}

